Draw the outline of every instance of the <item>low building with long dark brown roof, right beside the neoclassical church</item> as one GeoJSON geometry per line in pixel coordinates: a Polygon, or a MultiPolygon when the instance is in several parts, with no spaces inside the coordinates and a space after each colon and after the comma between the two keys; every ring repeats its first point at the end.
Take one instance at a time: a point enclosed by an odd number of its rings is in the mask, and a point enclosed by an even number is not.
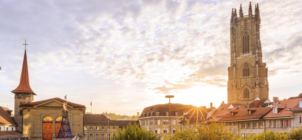
{"type": "Polygon", "coordinates": [[[119,134],[119,128],[126,128],[129,123],[139,124],[139,121],[111,120],[103,114],[85,114],[84,134],[87,140],[106,140],[113,138],[113,133],[119,134]]]}

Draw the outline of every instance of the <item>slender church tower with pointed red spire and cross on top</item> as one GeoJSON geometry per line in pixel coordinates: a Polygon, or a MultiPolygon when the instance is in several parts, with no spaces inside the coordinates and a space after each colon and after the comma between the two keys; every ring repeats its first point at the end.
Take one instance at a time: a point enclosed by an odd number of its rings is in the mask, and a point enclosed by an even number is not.
{"type": "MultiPolygon", "coordinates": [[[[26,41],[25,41],[26,44],[26,41]]],[[[26,44],[27,45],[27,44],[26,44]]],[[[23,65],[21,71],[21,78],[19,86],[11,91],[15,94],[15,122],[18,124],[16,130],[22,132],[22,115],[23,110],[19,107],[22,103],[29,103],[34,101],[35,92],[32,91],[31,85],[29,84],[29,74],[27,67],[26,48],[24,52],[23,65]]]]}

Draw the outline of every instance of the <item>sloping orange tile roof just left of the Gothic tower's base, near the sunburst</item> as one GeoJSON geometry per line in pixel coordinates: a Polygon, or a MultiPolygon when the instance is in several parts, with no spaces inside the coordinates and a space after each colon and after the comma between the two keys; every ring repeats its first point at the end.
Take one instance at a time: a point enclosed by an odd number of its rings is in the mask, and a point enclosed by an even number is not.
{"type": "Polygon", "coordinates": [[[229,114],[231,111],[238,110],[238,107],[234,107],[233,104],[222,104],[211,116],[211,119],[207,119],[208,123],[216,122],[222,119],[225,115],[229,114]]]}

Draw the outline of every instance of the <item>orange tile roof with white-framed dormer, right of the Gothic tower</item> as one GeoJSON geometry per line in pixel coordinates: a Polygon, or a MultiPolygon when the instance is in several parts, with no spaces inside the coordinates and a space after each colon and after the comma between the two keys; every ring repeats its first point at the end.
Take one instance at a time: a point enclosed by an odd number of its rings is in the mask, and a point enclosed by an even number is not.
{"type": "Polygon", "coordinates": [[[284,106],[285,108],[279,108],[277,114],[273,114],[273,110],[271,110],[268,114],[263,116],[263,118],[279,118],[279,117],[290,117],[293,115],[293,112],[287,109],[291,109],[295,107],[298,103],[299,100],[302,100],[301,98],[296,98],[296,99],[290,99],[290,100],[280,100],[279,105],[284,106]]]}

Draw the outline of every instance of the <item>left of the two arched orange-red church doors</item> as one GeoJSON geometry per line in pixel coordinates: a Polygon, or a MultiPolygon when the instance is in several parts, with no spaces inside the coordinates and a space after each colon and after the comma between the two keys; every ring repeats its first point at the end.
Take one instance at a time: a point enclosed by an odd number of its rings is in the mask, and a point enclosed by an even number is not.
{"type": "Polygon", "coordinates": [[[43,140],[52,140],[53,122],[50,116],[43,118],[43,140]]]}

